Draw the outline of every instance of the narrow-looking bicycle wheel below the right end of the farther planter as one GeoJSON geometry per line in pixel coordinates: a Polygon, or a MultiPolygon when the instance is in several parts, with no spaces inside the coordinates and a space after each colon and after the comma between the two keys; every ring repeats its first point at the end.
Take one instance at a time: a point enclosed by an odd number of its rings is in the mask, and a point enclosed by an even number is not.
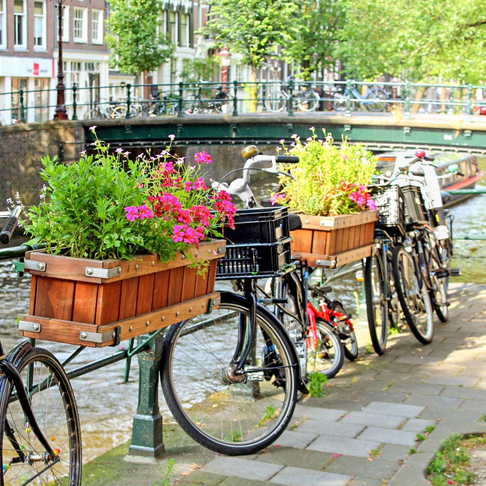
{"type": "Polygon", "coordinates": [[[371,342],[376,354],[382,355],[388,338],[388,302],[386,278],[380,252],[375,248],[364,265],[364,296],[371,342]]]}

